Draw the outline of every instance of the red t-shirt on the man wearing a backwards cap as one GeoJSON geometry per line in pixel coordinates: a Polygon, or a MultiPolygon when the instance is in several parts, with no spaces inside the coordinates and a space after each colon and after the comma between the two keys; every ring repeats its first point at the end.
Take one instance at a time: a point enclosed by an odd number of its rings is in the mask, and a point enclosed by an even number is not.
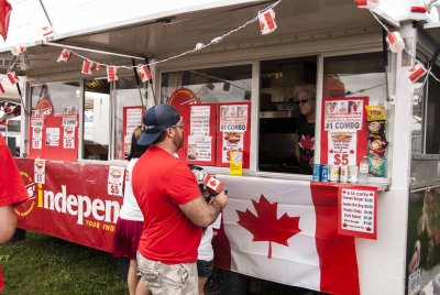
{"type": "Polygon", "coordinates": [[[187,164],[160,148],[150,146],[134,165],[132,185],[144,215],[141,254],[166,264],[197,261],[201,228],[178,207],[200,196],[187,164]]]}

